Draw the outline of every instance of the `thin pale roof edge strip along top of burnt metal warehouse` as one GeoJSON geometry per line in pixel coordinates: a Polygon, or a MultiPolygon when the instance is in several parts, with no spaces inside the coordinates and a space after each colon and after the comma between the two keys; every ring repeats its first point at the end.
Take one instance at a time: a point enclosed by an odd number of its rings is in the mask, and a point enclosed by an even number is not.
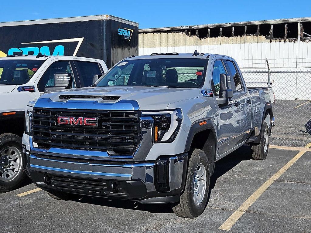
{"type": "Polygon", "coordinates": [[[198,28],[261,25],[261,24],[281,24],[281,23],[295,23],[295,22],[298,23],[298,22],[308,22],[308,21],[311,21],[311,17],[292,18],[292,19],[277,19],[277,20],[262,20],[262,21],[246,21],[246,22],[236,22],[236,23],[203,24],[203,25],[177,26],[177,27],[164,27],[164,28],[147,28],[147,29],[139,29],[139,33],[163,32],[163,31],[174,31],[174,30],[183,30],[183,29],[198,29],[198,28]]]}

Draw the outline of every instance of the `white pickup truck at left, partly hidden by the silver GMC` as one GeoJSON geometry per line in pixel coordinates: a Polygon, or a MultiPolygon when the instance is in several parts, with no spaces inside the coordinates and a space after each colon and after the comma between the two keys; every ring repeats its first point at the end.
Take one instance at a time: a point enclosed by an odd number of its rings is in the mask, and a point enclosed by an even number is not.
{"type": "Polygon", "coordinates": [[[71,56],[0,58],[0,193],[19,186],[25,107],[45,92],[87,87],[108,71],[102,60],[71,56]]]}

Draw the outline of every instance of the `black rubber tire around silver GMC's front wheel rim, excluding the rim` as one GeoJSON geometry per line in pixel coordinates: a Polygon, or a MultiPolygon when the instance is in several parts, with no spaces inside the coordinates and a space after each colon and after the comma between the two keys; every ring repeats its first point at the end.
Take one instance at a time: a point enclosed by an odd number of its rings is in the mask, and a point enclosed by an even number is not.
{"type": "Polygon", "coordinates": [[[173,206],[173,211],[177,216],[184,218],[196,218],[202,214],[207,204],[210,186],[209,174],[206,154],[202,150],[195,149],[189,159],[185,190],[180,196],[180,202],[175,203],[173,206]],[[202,202],[197,205],[193,199],[193,182],[197,166],[201,163],[205,166],[206,172],[205,194],[202,202]]]}

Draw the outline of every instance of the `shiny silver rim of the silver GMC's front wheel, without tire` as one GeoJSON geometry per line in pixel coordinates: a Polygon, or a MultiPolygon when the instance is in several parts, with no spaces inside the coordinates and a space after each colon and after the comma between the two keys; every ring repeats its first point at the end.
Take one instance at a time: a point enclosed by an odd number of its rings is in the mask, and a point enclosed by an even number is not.
{"type": "Polygon", "coordinates": [[[193,200],[196,205],[200,205],[205,196],[206,168],[200,163],[193,178],[193,200]]]}

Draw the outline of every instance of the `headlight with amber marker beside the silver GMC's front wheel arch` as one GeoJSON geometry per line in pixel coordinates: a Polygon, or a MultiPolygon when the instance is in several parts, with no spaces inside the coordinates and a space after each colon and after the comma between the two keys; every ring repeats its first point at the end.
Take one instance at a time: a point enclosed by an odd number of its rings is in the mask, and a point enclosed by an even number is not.
{"type": "Polygon", "coordinates": [[[174,109],[161,112],[142,112],[143,116],[150,116],[154,120],[153,142],[164,143],[174,141],[182,121],[181,110],[174,109]]]}

